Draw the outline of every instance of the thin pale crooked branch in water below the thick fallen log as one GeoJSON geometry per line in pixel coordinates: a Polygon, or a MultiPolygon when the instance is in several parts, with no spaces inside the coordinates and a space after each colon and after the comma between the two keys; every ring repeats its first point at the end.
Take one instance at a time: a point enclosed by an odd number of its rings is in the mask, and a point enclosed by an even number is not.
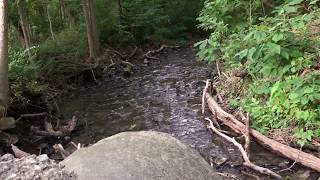
{"type": "Polygon", "coordinates": [[[282,177],[279,174],[271,171],[270,169],[267,169],[267,168],[264,168],[264,167],[257,166],[255,164],[253,164],[250,161],[250,159],[249,159],[249,157],[247,155],[247,152],[243,149],[243,147],[242,147],[242,145],[240,143],[238,143],[234,138],[231,138],[231,137],[221,133],[217,128],[214,127],[212,120],[210,120],[209,118],[206,118],[206,120],[209,122],[209,125],[208,125],[209,129],[211,129],[214,133],[216,133],[217,135],[219,135],[222,138],[226,139],[227,141],[231,142],[233,145],[235,145],[239,149],[239,151],[240,151],[240,153],[242,155],[242,158],[244,160],[243,165],[245,165],[245,166],[247,166],[247,167],[249,167],[249,168],[251,168],[251,169],[253,169],[255,171],[258,171],[261,174],[270,175],[270,176],[272,176],[272,177],[274,177],[276,179],[282,179],[282,177]]]}

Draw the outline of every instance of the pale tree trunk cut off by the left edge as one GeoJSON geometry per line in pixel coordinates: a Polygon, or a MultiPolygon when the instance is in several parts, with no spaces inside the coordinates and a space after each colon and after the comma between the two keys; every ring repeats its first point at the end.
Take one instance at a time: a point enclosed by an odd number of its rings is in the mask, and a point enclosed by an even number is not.
{"type": "Polygon", "coordinates": [[[0,0],[0,118],[5,115],[9,99],[7,13],[8,1],[0,0]]]}

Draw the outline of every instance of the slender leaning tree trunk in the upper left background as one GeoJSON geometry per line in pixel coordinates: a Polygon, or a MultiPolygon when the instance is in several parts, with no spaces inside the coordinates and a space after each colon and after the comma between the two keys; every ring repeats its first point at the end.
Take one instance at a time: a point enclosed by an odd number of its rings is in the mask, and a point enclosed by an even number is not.
{"type": "Polygon", "coordinates": [[[20,18],[20,25],[24,36],[25,47],[30,48],[32,47],[31,28],[26,18],[26,13],[24,9],[21,7],[20,0],[17,0],[16,4],[20,18]]]}

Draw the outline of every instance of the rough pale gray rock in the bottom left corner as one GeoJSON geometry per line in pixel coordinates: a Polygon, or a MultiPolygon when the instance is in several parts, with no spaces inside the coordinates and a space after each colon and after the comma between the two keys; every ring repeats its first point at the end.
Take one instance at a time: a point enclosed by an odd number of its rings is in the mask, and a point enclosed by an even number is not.
{"type": "Polygon", "coordinates": [[[0,157],[0,179],[73,180],[76,175],[63,170],[61,165],[50,160],[47,155],[31,155],[17,159],[11,154],[5,154],[0,157]]]}

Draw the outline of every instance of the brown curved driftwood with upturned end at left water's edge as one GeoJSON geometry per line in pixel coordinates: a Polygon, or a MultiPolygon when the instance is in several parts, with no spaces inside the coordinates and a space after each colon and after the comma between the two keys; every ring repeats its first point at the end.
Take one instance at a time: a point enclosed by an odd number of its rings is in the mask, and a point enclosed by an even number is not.
{"type": "Polygon", "coordinates": [[[75,129],[77,124],[77,119],[75,116],[72,117],[71,121],[68,122],[66,126],[59,127],[55,130],[52,124],[48,121],[44,122],[44,129],[40,130],[39,127],[31,127],[31,131],[37,135],[45,136],[45,137],[65,137],[71,134],[71,132],[75,129]]]}

